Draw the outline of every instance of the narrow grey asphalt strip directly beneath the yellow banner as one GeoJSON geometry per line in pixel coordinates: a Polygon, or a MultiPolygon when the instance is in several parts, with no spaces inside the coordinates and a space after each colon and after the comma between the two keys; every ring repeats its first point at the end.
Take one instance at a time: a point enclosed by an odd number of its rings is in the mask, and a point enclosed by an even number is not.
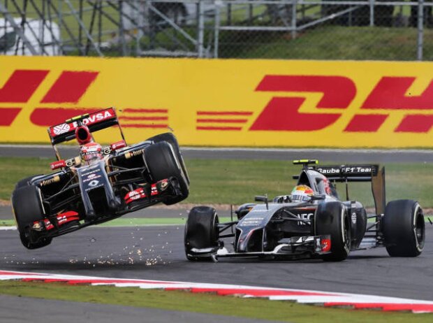
{"type": "MultiPolygon", "coordinates": [[[[59,148],[61,156],[78,155],[76,147],[59,148]]],[[[433,162],[433,150],[342,150],[342,149],[256,149],[256,148],[181,148],[184,158],[203,159],[318,159],[338,163],[433,162]]],[[[52,158],[50,145],[0,145],[0,157],[52,158]]]]}

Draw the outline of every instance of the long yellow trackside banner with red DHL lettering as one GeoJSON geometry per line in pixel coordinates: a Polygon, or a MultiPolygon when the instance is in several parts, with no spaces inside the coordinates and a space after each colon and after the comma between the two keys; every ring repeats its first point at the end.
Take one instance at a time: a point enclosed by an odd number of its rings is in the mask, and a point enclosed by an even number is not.
{"type": "MultiPolygon", "coordinates": [[[[117,108],[129,143],[433,147],[433,63],[0,57],[0,141],[117,108]]],[[[101,131],[101,143],[118,140],[101,131]]]]}

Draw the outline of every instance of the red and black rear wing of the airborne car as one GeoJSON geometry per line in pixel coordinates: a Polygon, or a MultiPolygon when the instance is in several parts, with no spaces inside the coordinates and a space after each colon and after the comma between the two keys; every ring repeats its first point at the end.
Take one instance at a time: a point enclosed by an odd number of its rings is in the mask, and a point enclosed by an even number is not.
{"type": "Polygon", "coordinates": [[[108,108],[94,113],[87,113],[86,115],[78,115],[77,117],[72,117],[71,119],[66,120],[62,124],[57,124],[48,128],[47,131],[52,145],[73,140],[75,138],[75,129],[80,123],[89,127],[90,132],[118,125],[122,138],[124,139],[115,108],[108,108]]]}

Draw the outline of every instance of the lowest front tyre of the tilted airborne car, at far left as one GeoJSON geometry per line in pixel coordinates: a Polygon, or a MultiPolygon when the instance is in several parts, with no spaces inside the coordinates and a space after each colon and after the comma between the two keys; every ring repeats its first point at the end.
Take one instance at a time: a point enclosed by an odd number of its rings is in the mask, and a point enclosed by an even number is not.
{"type": "Polygon", "coordinates": [[[37,249],[51,243],[52,238],[39,238],[36,242],[32,241],[34,239],[31,237],[32,232],[29,227],[35,221],[43,220],[43,209],[37,187],[29,185],[15,189],[12,195],[12,209],[24,247],[37,249]]]}

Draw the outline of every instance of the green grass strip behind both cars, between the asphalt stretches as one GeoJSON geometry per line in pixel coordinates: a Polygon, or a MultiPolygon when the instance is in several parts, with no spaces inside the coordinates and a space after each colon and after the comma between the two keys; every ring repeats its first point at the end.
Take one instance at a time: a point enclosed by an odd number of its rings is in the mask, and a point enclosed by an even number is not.
{"type": "MultiPolygon", "coordinates": [[[[15,183],[29,175],[49,173],[50,159],[0,158],[0,199],[10,199],[15,183]]],[[[191,178],[191,194],[187,203],[235,204],[254,201],[255,195],[270,198],[289,194],[295,185],[292,175],[300,166],[290,161],[186,159],[191,178]]],[[[386,193],[393,199],[415,199],[423,207],[433,207],[431,183],[433,164],[387,164],[386,193]]],[[[340,197],[345,199],[344,184],[337,184],[340,197]]],[[[369,183],[351,183],[349,198],[367,207],[374,206],[369,183]]]]}

